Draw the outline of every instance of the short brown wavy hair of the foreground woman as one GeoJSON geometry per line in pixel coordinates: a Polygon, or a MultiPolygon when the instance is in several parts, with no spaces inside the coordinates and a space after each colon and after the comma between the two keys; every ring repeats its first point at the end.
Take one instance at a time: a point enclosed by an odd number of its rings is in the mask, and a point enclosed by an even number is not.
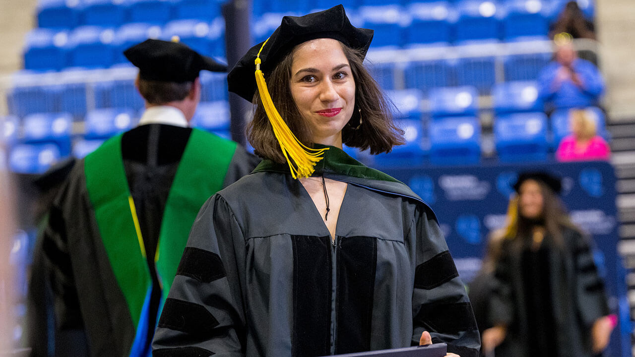
{"type": "MultiPolygon", "coordinates": [[[[363,151],[370,149],[370,153],[373,155],[391,152],[394,145],[404,143],[403,130],[392,122],[390,110],[392,103],[387,100],[375,79],[366,71],[363,65],[363,54],[342,43],[340,45],[351,65],[351,72],[356,84],[355,103],[356,107],[361,109],[361,112],[354,111],[351,121],[344,126],[342,142],[349,147],[358,147],[363,151]],[[359,125],[360,114],[363,123],[358,130],[355,130],[354,128],[359,125]]],[[[302,144],[311,146],[311,128],[302,120],[302,114],[300,114],[291,95],[291,65],[293,64],[294,51],[288,53],[271,71],[271,74],[265,75],[265,79],[274,105],[276,105],[276,109],[286,125],[302,144]]],[[[253,96],[253,104],[255,110],[253,120],[247,126],[247,138],[253,146],[255,154],[277,163],[284,163],[286,159],[276,140],[258,92],[253,96]]]]}

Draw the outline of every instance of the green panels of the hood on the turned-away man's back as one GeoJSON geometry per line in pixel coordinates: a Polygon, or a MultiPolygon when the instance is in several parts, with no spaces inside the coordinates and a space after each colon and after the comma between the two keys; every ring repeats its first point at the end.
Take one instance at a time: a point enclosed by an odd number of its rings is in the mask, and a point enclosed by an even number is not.
{"type": "MultiPolygon", "coordinates": [[[[110,138],[86,156],[84,173],[102,243],[137,330],[152,278],[123,166],[122,136],[110,138]]],[[[164,292],[161,306],[194,219],[203,203],[223,188],[234,151],[235,142],[192,129],[168,194],[154,259],[164,292]]]]}

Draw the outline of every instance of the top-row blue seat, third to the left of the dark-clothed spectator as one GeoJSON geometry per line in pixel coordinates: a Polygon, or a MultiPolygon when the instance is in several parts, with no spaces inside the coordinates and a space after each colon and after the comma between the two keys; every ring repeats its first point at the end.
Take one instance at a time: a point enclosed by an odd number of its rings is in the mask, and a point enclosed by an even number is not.
{"type": "Polygon", "coordinates": [[[408,13],[412,22],[404,29],[404,44],[452,41],[450,11],[450,5],[446,1],[411,4],[408,13]]]}

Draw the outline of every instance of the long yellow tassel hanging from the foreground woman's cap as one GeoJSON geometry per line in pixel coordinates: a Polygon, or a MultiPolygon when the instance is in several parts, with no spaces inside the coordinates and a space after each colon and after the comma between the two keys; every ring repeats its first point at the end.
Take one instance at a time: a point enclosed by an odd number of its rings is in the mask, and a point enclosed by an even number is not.
{"type": "MultiPolygon", "coordinates": [[[[269,41],[269,39],[267,39],[269,41]]],[[[291,129],[284,123],[284,120],[280,116],[279,112],[274,105],[269,90],[267,89],[267,83],[265,82],[265,76],[260,71],[260,52],[264,48],[267,41],[262,44],[258,55],[256,56],[256,84],[258,86],[258,93],[260,93],[260,100],[265,108],[269,122],[274,129],[274,135],[280,143],[282,153],[286,162],[291,170],[291,176],[293,179],[300,179],[302,177],[309,177],[315,171],[316,163],[323,159],[324,151],[328,150],[328,147],[324,149],[312,149],[302,144],[300,140],[291,132],[291,129]]]]}

